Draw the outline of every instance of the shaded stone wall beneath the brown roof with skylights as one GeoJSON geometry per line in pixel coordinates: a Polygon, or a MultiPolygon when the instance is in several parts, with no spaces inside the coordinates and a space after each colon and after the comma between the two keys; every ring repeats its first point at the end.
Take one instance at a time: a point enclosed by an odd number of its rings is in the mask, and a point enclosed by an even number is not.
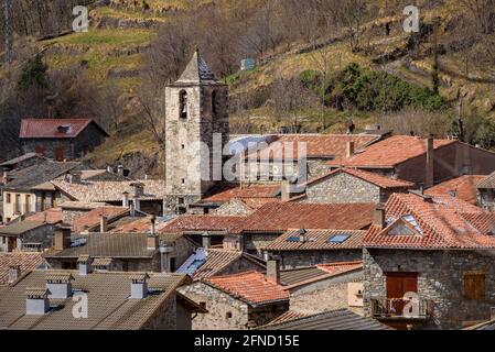
{"type": "Polygon", "coordinates": [[[280,265],[284,270],[312,266],[316,264],[354,262],[363,257],[362,250],[326,250],[326,251],[283,251],[269,252],[280,256],[280,265]]]}

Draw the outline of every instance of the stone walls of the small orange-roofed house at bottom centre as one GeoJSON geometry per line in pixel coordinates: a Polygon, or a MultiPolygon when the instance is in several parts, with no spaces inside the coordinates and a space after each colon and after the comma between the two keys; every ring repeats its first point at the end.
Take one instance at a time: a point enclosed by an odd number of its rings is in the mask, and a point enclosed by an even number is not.
{"type": "Polygon", "coordinates": [[[206,304],[208,312],[194,318],[193,330],[246,330],[248,322],[262,326],[289,309],[289,301],[252,307],[201,282],[183,286],[179,292],[206,304]]]}

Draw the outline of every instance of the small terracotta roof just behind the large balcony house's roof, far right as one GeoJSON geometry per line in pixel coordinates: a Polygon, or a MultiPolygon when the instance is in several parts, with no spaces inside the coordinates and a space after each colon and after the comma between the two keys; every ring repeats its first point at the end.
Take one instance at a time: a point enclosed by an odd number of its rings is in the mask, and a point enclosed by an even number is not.
{"type": "Polygon", "coordinates": [[[455,195],[472,205],[476,204],[476,184],[485,178],[482,175],[463,175],[428,188],[427,195],[455,195]]]}

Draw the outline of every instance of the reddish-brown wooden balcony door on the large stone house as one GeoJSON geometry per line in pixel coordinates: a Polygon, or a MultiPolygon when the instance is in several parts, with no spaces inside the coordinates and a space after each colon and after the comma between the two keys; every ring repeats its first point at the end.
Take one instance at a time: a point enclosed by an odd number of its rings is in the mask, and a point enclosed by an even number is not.
{"type": "Polygon", "coordinates": [[[406,293],[418,293],[417,273],[387,273],[387,298],[390,301],[392,315],[402,316],[406,301],[400,300],[406,293]]]}

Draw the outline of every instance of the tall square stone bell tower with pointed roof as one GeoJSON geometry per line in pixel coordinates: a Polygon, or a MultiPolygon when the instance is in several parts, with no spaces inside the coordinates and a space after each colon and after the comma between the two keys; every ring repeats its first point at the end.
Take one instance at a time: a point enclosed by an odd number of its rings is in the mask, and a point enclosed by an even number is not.
{"type": "Polygon", "coordinates": [[[222,150],[228,142],[228,87],[196,52],[182,76],[165,89],[165,213],[182,213],[222,182],[222,150]],[[219,155],[218,155],[219,153],[219,155]]]}

